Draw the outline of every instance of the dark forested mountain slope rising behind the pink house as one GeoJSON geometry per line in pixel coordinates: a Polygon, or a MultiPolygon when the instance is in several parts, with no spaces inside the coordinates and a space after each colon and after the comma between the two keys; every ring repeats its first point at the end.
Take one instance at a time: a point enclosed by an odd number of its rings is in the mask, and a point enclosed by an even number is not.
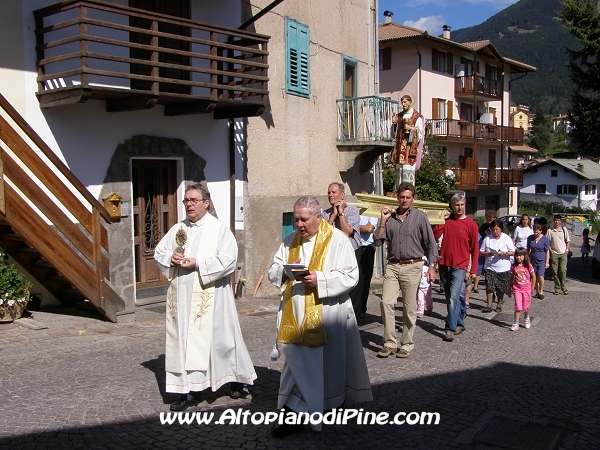
{"type": "Polygon", "coordinates": [[[541,107],[558,115],[569,109],[573,84],[569,78],[566,48],[578,43],[558,19],[560,0],[521,0],[480,25],[452,32],[452,40],[489,39],[503,56],[537,67],[537,72],[511,85],[512,100],[541,107]]]}

